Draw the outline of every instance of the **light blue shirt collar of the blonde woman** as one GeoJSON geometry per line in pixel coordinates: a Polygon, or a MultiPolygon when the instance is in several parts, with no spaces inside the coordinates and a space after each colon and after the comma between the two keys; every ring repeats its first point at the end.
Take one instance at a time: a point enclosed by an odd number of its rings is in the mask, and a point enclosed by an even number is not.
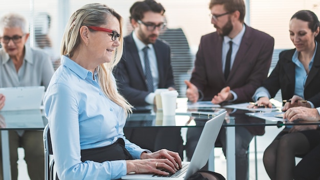
{"type": "MultiPolygon", "coordinates": [[[[80,78],[85,79],[88,75],[92,77],[92,72],[83,68],[81,65],[71,60],[68,56],[61,57],[61,64],[65,65],[68,69],[76,73],[80,78]]],[[[96,74],[96,71],[95,71],[96,74]]]]}

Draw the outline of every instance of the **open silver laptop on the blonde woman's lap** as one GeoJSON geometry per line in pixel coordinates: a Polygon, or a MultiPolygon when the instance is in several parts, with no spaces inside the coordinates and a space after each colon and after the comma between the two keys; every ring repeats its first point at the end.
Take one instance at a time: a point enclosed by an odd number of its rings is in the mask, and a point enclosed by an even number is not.
{"type": "MultiPolygon", "coordinates": [[[[218,133],[220,131],[221,125],[223,123],[226,111],[221,113],[220,115],[212,118],[207,121],[203,127],[200,139],[192,156],[191,162],[182,162],[182,169],[186,166],[188,169],[179,176],[171,176],[171,177],[158,177],[153,174],[127,174],[122,176],[122,179],[176,179],[176,180],[184,180],[190,177],[192,174],[201,169],[209,160],[210,153],[216,139],[218,137],[218,133]]],[[[178,171],[179,172],[179,171],[178,171]]]]}

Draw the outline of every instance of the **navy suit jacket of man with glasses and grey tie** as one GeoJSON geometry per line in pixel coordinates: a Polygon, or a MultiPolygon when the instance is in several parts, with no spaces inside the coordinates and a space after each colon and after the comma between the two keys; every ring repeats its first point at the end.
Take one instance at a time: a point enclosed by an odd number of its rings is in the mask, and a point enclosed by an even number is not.
{"type": "MultiPolygon", "coordinates": [[[[159,72],[158,88],[174,87],[170,47],[161,40],[156,40],[153,48],[159,72]]],[[[147,105],[145,97],[149,94],[148,88],[132,34],[124,38],[124,52],[113,74],[118,81],[120,93],[130,104],[147,105]]]]}

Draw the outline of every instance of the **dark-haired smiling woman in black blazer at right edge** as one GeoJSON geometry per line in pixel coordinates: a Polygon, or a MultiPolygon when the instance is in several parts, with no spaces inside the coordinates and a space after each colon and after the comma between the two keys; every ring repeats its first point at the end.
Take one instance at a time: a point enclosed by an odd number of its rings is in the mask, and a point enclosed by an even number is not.
{"type": "MultiPolygon", "coordinates": [[[[295,49],[280,53],[276,68],[253,98],[258,105],[271,107],[269,99],[281,89],[284,100],[292,98],[283,110],[293,106],[319,107],[319,20],[311,11],[298,11],[291,17],[289,32],[295,49]]],[[[278,134],[263,155],[270,179],[293,179],[295,156],[308,153],[320,143],[320,130],[316,129],[309,125],[286,126],[278,134]]]]}

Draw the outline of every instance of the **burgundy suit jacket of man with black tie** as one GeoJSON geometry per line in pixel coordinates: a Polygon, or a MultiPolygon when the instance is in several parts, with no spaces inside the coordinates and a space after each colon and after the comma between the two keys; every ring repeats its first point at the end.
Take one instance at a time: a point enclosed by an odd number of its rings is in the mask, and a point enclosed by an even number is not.
{"type": "Polygon", "coordinates": [[[191,82],[202,91],[203,100],[212,100],[223,87],[230,86],[238,96],[235,103],[252,101],[256,89],[267,78],[275,40],[266,33],[245,28],[227,80],[222,71],[223,37],[217,32],[201,37],[191,82]]]}

